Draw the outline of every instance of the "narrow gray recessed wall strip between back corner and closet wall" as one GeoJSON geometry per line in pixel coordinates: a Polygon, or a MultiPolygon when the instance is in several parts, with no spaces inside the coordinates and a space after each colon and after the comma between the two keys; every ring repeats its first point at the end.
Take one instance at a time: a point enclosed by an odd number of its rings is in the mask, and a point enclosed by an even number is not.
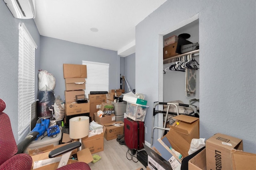
{"type": "MultiPolygon", "coordinates": [[[[124,58],[124,76],[130,86],[131,91],[135,89],[135,53],[124,58]]],[[[129,92],[126,82],[125,92],[129,92]]]]}

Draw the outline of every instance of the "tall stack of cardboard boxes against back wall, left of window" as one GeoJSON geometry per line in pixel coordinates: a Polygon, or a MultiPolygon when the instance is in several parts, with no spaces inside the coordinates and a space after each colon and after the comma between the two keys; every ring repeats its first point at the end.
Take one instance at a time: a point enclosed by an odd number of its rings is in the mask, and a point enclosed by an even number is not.
{"type": "Polygon", "coordinates": [[[76,103],[76,96],[84,95],[85,78],[87,78],[86,65],[63,64],[63,76],[65,79],[65,120],[71,115],[90,113],[89,103],[76,103]]]}

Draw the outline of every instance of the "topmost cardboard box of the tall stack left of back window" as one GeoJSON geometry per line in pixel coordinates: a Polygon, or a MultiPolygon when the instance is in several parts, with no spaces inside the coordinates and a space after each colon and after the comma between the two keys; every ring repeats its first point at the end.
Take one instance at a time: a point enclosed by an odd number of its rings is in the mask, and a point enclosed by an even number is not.
{"type": "Polygon", "coordinates": [[[87,78],[86,65],[63,64],[64,78],[87,78]]]}

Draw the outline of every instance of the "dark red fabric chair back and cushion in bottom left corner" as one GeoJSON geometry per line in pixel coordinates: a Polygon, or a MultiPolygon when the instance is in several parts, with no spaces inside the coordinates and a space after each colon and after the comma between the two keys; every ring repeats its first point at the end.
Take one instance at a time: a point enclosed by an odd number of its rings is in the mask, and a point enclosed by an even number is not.
{"type": "Polygon", "coordinates": [[[4,111],[5,102],[0,99],[0,170],[30,170],[32,158],[18,151],[8,115],[4,111]]]}

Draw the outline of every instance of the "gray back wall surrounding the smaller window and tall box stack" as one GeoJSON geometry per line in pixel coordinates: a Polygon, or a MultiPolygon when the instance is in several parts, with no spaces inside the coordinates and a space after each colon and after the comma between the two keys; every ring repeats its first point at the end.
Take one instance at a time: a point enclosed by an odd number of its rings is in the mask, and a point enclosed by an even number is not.
{"type": "Polygon", "coordinates": [[[65,100],[64,91],[66,89],[63,64],[82,64],[83,60],[109,63],[109,89],[120,88],[120,56],[117,55],[117,51],[44,36],[40,36],[40,43],[41,49],[43,49],[40,53],[40,69],[54,74],[56,78],[54,93],[62,100],[65,100]]]}

